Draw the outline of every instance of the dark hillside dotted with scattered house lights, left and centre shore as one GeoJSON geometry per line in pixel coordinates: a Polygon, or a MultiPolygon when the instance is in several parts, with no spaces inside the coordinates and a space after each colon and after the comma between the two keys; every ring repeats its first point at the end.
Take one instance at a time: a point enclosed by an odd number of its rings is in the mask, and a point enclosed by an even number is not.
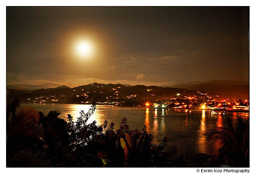
{"type": "Polygon", "coordinates": [[[7,101],[10,101],[15,96],[21,102],[33,102],[39,98],[47,98],[47,102],[58,101],[58,103],[81,103],[84,100],[104,102],[106,99],[116,100],[129,97],[135,97],[135,99],[169,98],[177,93],[185,95],[186,90],[145,85],[125,86],[112,83],[91,83],[74,88],[48,88],[29,92],[11,89],[7,93],[7,101]]]}

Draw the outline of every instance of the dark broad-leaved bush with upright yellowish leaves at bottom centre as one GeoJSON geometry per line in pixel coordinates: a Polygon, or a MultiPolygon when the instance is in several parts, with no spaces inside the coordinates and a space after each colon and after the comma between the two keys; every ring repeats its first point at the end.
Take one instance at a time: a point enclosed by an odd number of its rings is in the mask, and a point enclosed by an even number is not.
{"type": "MultiPolygon", "coordinates": [[[[105,121],[104,127],[106,126],[105,121]]],[[[102,158],[104,165],[111,166],[115,163],[119,163],[122,167],[172,165],[168,158],[176,153],[177,147],[173,146],[169,151],[163,152],[168,142],[166,137],[156,145],[152,143],[154,137],[148,133],[146,125],[141,132],[138,129],[129,130],[127,118],[123,118],[116,132],[113,131],[113,126],[111,123],[105,134],[105,138],[111,140],[112,146],[109,145],[105,152],[98,152],[98,157],[102,158]]]]}

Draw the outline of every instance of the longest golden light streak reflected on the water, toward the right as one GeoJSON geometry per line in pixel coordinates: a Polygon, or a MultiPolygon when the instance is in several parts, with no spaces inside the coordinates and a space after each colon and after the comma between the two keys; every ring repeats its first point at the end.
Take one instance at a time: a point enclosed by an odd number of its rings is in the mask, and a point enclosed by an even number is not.
{"type": "Polygon", "coordinates": [[[198,130],[197,149],[201,153],[206,153],[206,126],[205,126],[205,110],[202,111],[201,123],[198,130]]]}

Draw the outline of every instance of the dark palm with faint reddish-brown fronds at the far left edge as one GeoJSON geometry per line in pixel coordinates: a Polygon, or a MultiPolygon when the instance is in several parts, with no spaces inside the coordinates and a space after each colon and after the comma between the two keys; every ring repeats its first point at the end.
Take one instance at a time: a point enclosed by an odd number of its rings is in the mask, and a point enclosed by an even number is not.
{"type": "Polygon", "coordinates": [[[39,124],[40,115],[35,108],[22,107],[17,110],[18,107],[19,103],[15,98],[6,104],[6,157],[7,165],[22,166],[24,163],[19,159],[24,159],[22,161],[25,162],[27,157],[33,158],[31,155],[27,156],[31,153],[30,148],[45,145],[45,132],[39,124]]]}

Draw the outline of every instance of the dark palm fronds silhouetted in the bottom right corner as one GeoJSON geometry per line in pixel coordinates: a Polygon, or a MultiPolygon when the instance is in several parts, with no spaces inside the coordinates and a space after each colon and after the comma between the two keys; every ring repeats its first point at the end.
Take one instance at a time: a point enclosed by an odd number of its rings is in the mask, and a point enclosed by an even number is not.
{"type": "Polygon", "coordinates": [[[208,140],[220,142],[221,163],[234,167],[249,167],[249,119],[239,116],[235,124],[228,116],[226,120],[228,127],[218,127],[208,136],[208,140]]]}

